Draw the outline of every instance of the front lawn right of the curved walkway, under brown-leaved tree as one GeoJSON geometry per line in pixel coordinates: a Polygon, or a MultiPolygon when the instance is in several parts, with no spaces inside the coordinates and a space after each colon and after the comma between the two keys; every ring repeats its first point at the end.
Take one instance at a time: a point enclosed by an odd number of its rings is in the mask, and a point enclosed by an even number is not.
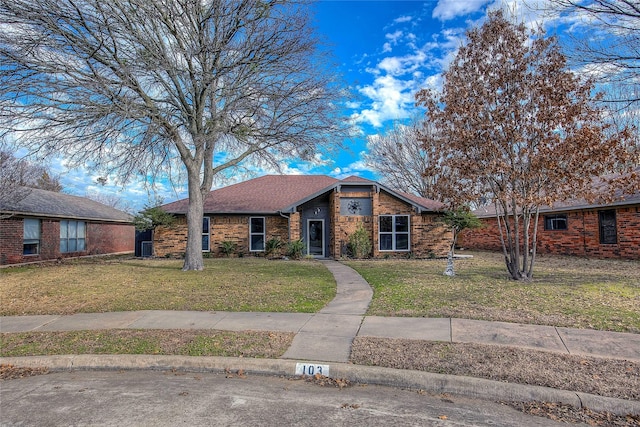
{"type": "Polygon", "coordinates": [[[368,315],[458,317],[640,332],[640,262],[539,256],[532,282],[499,254],[456,260],[350,261],[374,289],[368,315]]]}

